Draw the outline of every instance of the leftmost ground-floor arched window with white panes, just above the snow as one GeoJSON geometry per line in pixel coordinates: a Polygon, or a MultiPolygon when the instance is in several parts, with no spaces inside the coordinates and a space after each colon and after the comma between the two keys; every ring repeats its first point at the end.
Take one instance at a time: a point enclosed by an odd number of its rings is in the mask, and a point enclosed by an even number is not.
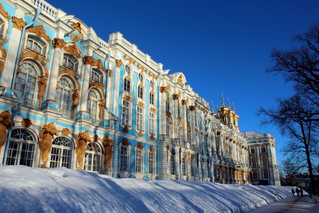
{"type": "Polygon", "coordinates": [[[32,167],[36,143],[36,136],[28,129],[13,129],[5,164],[32,167]]]}

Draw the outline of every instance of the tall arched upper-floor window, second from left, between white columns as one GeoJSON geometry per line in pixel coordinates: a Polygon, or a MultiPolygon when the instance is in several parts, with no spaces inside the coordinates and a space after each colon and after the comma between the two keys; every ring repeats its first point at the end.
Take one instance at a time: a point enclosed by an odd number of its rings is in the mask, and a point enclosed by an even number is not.
{"type": "Polygon", "coordinates": [[[68,117],[71,116],[72,105],[72,84],[66,77],[59,79],[59,88],[56,90],[56,102],[59,105],[61,113],[68,117]]]}

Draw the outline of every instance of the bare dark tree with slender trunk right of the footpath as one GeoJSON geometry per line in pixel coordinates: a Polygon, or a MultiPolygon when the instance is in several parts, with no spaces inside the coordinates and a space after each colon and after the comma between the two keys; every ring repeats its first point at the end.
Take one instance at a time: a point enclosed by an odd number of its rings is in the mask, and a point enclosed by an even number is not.
{"type": "Polygon", "coordinates": [[[315,182],[312,161],[317,157],[319,146],[319,122],[308,118],[313,116],[314,111],[314,105],[299,95],[278,100],[278,107],[275,109],[259,110],[259,114],[264,116],[262,124],[273,124],[282,135],[290,138],[283,151],[291,158],[305,163],[313,188],[315,182]]]}

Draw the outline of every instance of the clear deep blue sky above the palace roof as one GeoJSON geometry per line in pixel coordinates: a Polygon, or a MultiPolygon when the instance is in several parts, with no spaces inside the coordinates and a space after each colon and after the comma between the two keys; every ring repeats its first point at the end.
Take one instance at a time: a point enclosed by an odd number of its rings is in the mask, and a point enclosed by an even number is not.
{"type": "Polygon", "coordinates": [[[279,75],[265,73],[271,49],[292,47],[292,37],[319,21],[319,0],[47,0],[73,14],[108,41],[120,31],[139,49],[183,72],[215,110],[220,94],[235,103],[240,131],[276,137],[277,160],[287,138],[260,126],[260,106],[293,94],[279,75]]]}

